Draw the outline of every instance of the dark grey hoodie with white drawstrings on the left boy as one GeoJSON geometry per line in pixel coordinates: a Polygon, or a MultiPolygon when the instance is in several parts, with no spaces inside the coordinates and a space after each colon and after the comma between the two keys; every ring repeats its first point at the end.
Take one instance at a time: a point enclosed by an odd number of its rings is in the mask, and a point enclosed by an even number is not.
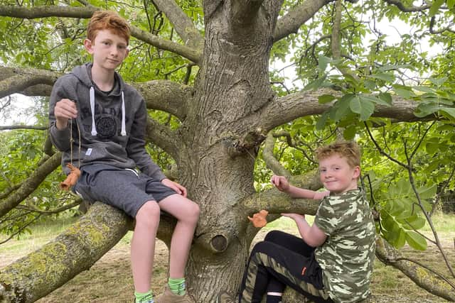
{"type": "Polygon", "coordinates": [[[70,99],[77,106],[77,119],[72,121],[73,165],[80,164],[84,170],[90,170],[90,164],[138,167],[144,174],[163,180],[163,172],[145,149],[144,99],[136,89],[124,83],[117,72],[114,89],[102,92],[93,84],[91,70],[91,63],[75,67],[70,74],[57,79],[50,94],[50,139],[63,152],[64,172],[70,172],[66,167],[71,161],[70,122],[67,128],[58,130],[54,108],[61,99],[70,99]]]}

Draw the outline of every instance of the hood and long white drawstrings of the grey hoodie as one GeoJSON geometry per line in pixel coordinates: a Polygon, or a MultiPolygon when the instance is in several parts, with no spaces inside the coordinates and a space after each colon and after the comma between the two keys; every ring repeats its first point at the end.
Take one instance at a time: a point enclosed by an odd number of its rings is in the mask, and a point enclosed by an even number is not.
{"type": "MultiPolygon", "coordinates": [[[[72,71],[71,74],[73,74],[79,81],[84,84],[85,86],[89,87],[90,93],[89,93],[89,99],[90,99],[90,111],[92,114],[92,131],[91,134],[92,136],[97,136],[97,127],[95,123],[95,90],[97,90],[100,93],[105,93],[100,91],[100,89],[97,88],[95,83],[92,80],[92,63],[86,63],[85,65],[79,65],[75,67],[72,71]]],[[[114,77],[115,77],[115,82],[118,85],[118,89],[116,89],[116,84],[114,84],[114,90],[112,92],[109,92],[109,95],[112,96],[118,96],[122,98],[122,131],[121,135],[122,136],[127,136],[127,128],[126,128],[126,122],[125,122],[125,97],[124,97],[124,82],[122,77],[119,75],[119,73],[114,72],[114,77]]]]}

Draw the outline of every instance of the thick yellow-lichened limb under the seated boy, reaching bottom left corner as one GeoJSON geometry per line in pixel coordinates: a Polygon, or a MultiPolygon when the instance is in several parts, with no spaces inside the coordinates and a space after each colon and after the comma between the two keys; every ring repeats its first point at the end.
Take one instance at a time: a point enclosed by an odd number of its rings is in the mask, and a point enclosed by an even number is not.
{"type": "Polygon", "coordinates": [[[35,302],[88,270],[127,233],[132,219],[96,203],[73,226],[41,249],[0,272],[1,302],[35,302]]]}

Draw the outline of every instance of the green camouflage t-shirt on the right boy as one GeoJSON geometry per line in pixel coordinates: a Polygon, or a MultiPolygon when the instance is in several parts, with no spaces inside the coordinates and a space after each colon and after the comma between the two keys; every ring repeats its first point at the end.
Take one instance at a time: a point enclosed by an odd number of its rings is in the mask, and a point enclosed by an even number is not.
{"type": "Polygon", "coordinates": [[[328,236],[315,250],[323,284],[334,302],[358,302],[370,294],[375,224],[360,189],[325,197],[314,224],[328,236]]]}

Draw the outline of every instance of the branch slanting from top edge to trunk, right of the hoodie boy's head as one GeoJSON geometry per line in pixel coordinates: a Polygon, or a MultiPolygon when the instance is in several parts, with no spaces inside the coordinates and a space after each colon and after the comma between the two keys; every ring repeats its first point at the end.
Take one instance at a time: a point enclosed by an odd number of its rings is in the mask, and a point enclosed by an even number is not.
{"type": "Polygon", "coordinates": [[[169,21],[171,21],[173,28],[176,29],[176,32],[184,41],[185,45],[189,48],[202,50],[204,43],[203,36],[200,35],[193,21],[178,7],[176,1],[154,0],[154,3],[160,11],[164,12],[169,21]]]}

